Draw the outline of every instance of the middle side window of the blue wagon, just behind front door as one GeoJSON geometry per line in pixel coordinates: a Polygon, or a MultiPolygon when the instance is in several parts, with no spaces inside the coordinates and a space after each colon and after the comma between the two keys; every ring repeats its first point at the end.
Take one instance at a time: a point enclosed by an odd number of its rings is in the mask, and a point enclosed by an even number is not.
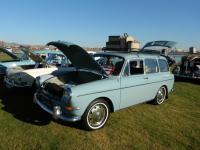
{"type": "Polygon", "coordinates": [[[145,72],[147,74],[158,72],[158,64],[156,59],[145,59],[145,72]]]}

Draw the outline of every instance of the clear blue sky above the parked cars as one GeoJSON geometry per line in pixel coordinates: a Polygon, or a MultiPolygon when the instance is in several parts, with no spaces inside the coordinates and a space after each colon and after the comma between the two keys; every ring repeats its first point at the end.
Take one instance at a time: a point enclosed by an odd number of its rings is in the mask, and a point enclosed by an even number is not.
{"type": "Polygon", "coordinates": [[[0,0],[0,40],[103,47],[129,33],[141,44],[174,40],[200,49],[199,0],[0,0]]]}

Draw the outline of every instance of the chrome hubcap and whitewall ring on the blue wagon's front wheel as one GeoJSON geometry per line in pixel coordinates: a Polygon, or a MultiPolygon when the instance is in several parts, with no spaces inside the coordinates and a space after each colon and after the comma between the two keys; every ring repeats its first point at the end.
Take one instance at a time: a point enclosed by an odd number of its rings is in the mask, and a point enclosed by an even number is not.
{"type": "Polygon", "coordinates": [[[91,127],[101,127],[107,120],[108,108],[104,103],[97,103],[88,112],[87,120],[91,127]]]}

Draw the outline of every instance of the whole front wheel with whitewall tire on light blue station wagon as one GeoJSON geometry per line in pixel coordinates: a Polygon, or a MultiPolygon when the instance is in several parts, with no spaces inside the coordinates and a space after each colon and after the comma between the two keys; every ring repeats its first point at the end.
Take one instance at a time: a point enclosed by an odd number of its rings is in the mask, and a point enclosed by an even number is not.
{"type": "Polygon", "coordinates": [[[110,107],[104,99],[97,99],[90,103],[82,116],[82,124],[86,130],[102,128],[110,116],[110,107]]]}

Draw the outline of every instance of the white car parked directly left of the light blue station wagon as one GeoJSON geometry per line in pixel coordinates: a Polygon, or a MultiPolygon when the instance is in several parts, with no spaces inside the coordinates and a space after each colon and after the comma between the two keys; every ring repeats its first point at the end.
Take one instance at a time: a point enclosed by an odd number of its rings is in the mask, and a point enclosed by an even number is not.
{"type": "Polygon", "coordinates": [[[38,76],[51,74],[58,68],[66,67],[68,60],[62,53],[49,54],[46,60],[35,56],[37,64],[33,69],[23,69],[22,67],[9,68],[4,82],[7,88],[32,88],[38,76]]]}

